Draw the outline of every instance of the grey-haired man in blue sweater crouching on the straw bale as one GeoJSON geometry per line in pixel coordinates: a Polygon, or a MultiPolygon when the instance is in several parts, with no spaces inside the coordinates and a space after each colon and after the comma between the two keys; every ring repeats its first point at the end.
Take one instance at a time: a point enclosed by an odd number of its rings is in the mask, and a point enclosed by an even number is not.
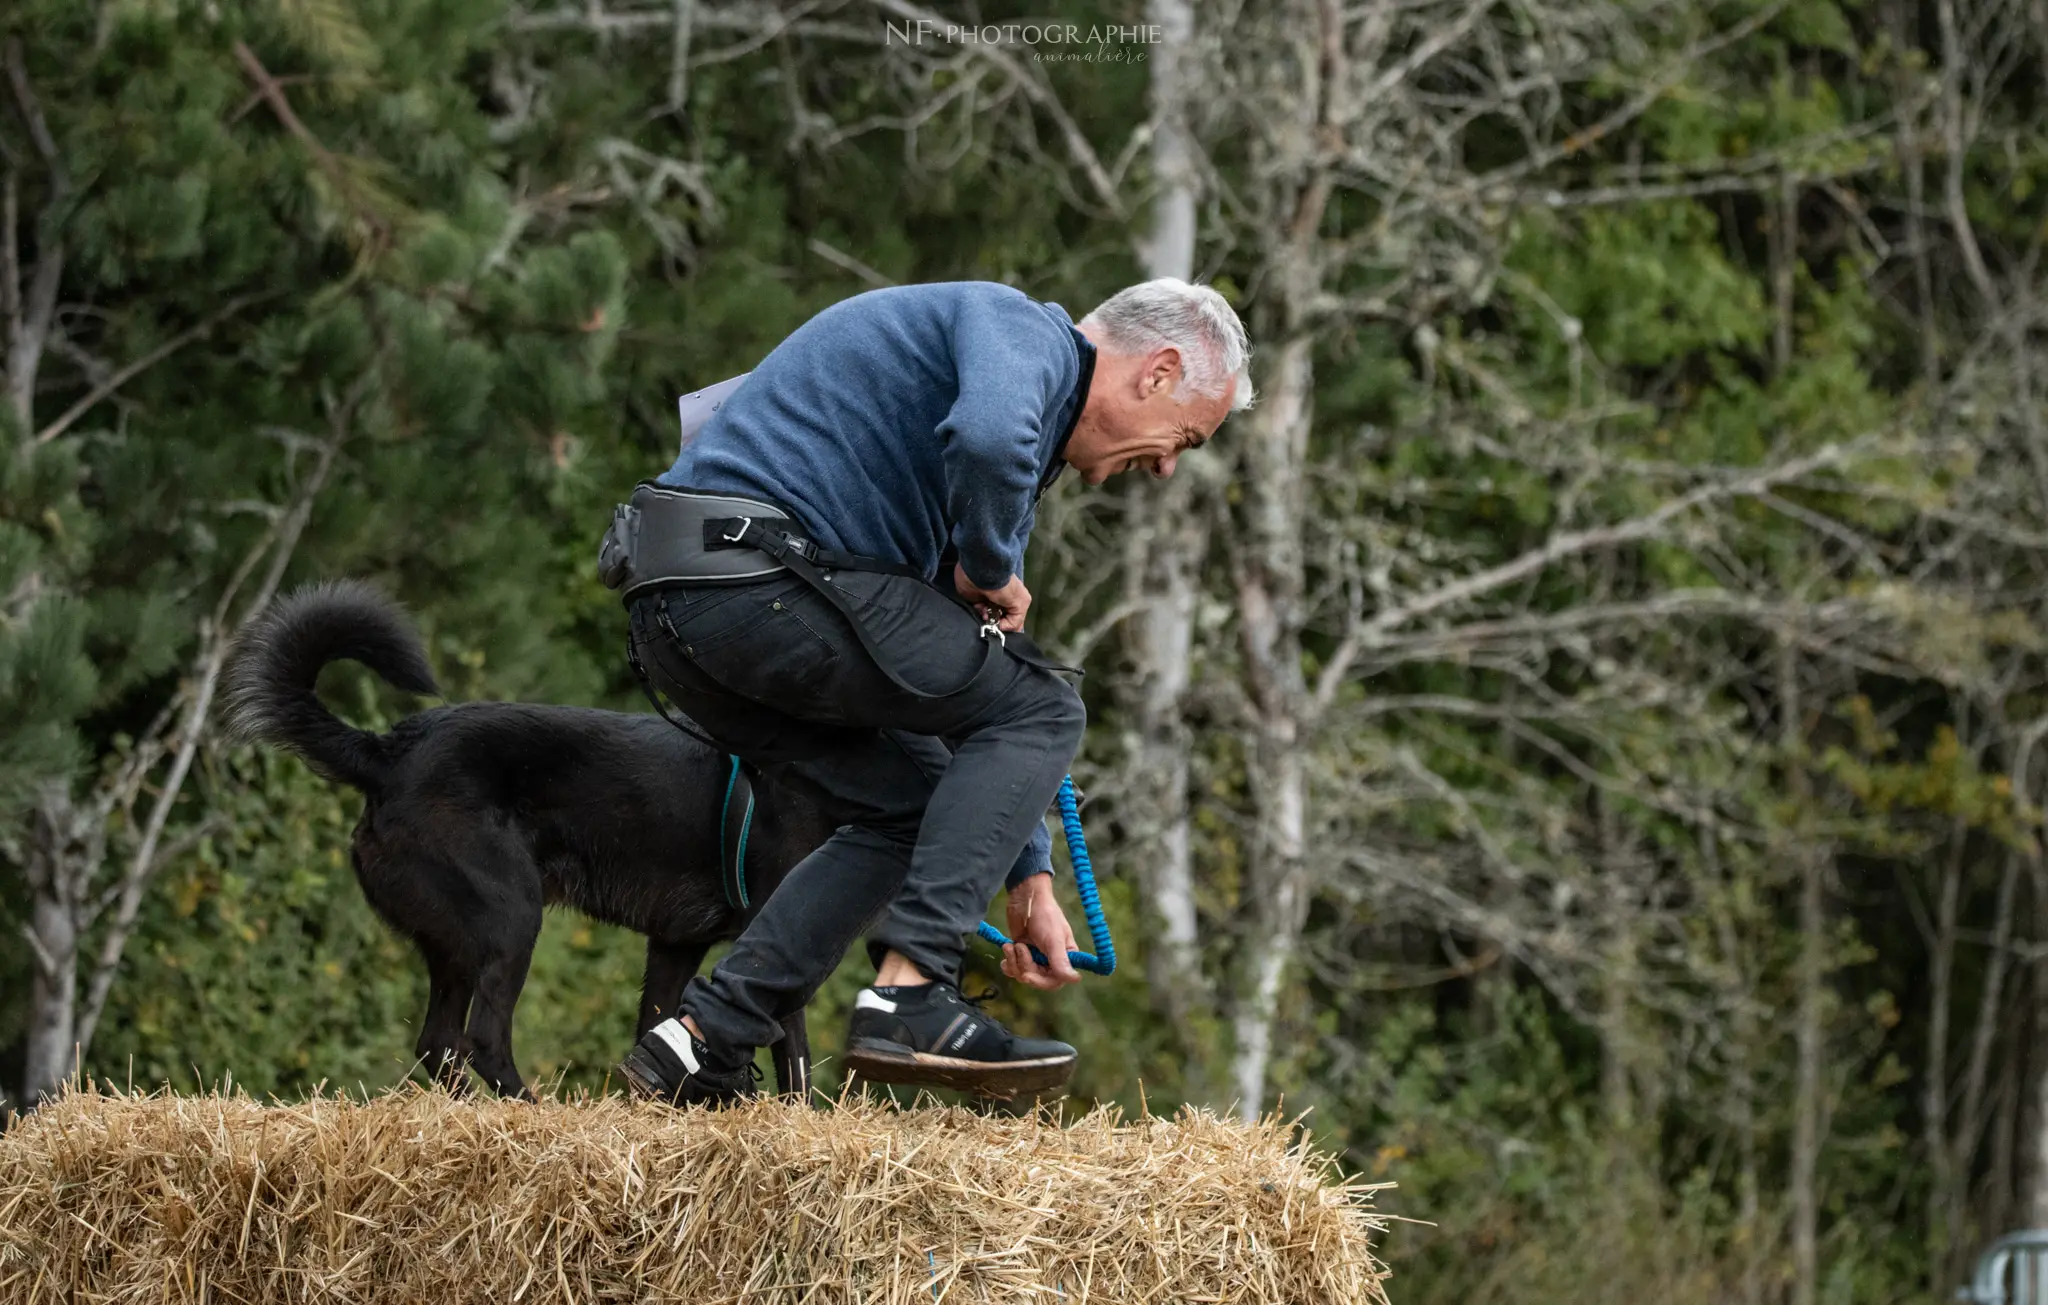
{"type": "Polygon", "coordinates": [[[752,1096],[754,1049],[862,932],[877,975],[850,1069],[993,1096],[1073,1074],[1073,1047],[1014,1037],[958,992],[997,885],[1004,973],[1077,977],[1044,811],[1085,713],[1022,635],[1024,547],[1063,467],[1090,486],[1171,475],[1251,404],[1247,352],[1217,291],[1171,279],[1079,326],[1004,285],[893,287],[799,328],[684,445],[657,486],[702,582],[629,586],[637,664],[844,824],[690,981],[682,1018],[639,1041],[621,1065],[637,1092],[752,1096]]]}

